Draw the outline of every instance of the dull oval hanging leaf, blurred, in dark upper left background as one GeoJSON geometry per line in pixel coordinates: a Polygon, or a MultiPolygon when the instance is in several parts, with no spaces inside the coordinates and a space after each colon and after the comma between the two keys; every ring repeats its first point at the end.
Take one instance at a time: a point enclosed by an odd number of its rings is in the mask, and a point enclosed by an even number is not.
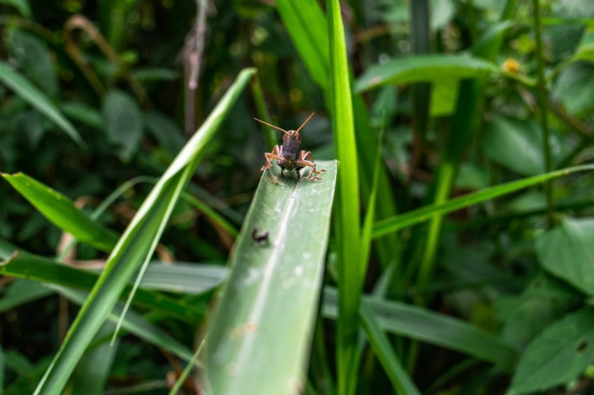
{"type": "Polygon", "coordinates": [[[103,99],[106,134],[118,145],[118,155],[129,161],[143,137],[143,115],[138,103],[126,92],[113,90],[103,99]]]}

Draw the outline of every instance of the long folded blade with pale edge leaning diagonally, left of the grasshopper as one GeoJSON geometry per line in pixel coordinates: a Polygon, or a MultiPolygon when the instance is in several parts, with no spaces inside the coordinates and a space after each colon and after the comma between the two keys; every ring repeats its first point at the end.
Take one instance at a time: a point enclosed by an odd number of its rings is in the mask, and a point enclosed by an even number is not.
{"type": "Polygon", "coordinates": [[[171,166],[140,206],[115,246],[105,271],[101,273],[89,298],[80,309],[35,394],[57,394],[64,389],[75,365],[107,319],[127,283],[140,264],[152,255],[173,206],[205,152],[206,144],[229,114],[253,74],[253,69],[244,70],[239,74],[202,127],[175,157],[171,166]]]}

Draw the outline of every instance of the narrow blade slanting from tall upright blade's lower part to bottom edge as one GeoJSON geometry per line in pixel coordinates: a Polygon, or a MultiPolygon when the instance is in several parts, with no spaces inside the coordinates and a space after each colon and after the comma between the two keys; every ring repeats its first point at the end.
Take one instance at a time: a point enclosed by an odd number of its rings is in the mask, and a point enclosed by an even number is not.
{"type": "Polygon", "coordinates": [[[396,393],[421,395],[421,392],[416,388],[405,368],[400,364],[388,336],[380,328],[375,313],[373,313],[367,301],[361,301],[359,314],[361,315],[361,325],[365,330],[373,352],[384,367],[384,371],[396,389],[396,393]]]}

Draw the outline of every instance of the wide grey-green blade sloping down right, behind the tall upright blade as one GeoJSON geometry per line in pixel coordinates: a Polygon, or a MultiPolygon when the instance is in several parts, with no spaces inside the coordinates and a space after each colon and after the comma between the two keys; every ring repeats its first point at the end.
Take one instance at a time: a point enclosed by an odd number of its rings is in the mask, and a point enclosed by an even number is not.
{"type": "MultiPolygon", "coordinates": [[[[512,368],[516,351],[499,338],[461,319],[435,313],[377,296],[363,296],[383,331],[449,348],[483,361],[493,362],[505,370],[512,368]]],[[[324,289],[324,317],[337,316],[336,289],[324,289]]],[[[365,313],[367,314],[367,313],[365,313]]]]}

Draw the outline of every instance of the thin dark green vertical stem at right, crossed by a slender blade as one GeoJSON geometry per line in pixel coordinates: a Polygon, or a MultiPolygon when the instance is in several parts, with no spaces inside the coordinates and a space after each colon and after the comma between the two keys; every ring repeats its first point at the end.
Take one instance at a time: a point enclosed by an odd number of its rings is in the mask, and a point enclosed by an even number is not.
{"type": "MultiPolygon", "coordinates": [[[[540,24],[540,7],[538,0],[533,0],[534,13],[534,35],[536,41],[535,55],[537,64],[537,101],[540,108],[539,118],[540,127],[542,128],[542,150],[544,151],[544,171],[547,173],[553,169],[551,163],[551,145],[549,143],[549,122],[546,120],[546,80],[544,79],[544,57],[542,49],[542,36],[540,24]]],[[[544,195],[546,196],[546,219],[549,222],[549,227],[553,226],[553,189],[551,182],[545,182],[544,195]]]]}

